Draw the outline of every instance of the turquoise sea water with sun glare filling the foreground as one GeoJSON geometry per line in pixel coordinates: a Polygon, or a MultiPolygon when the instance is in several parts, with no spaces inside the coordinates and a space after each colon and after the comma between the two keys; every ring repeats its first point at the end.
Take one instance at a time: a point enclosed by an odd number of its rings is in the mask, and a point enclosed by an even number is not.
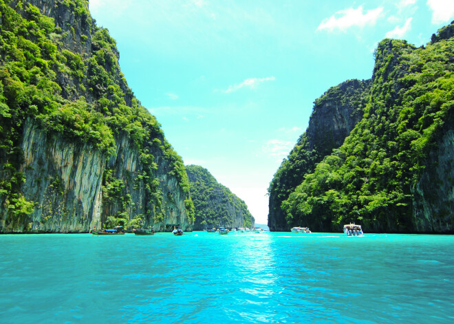
{"type": "Polygon", "coordinates": [[[1,323],[452,323],[454,236],[0,235],[1,323]]]}

